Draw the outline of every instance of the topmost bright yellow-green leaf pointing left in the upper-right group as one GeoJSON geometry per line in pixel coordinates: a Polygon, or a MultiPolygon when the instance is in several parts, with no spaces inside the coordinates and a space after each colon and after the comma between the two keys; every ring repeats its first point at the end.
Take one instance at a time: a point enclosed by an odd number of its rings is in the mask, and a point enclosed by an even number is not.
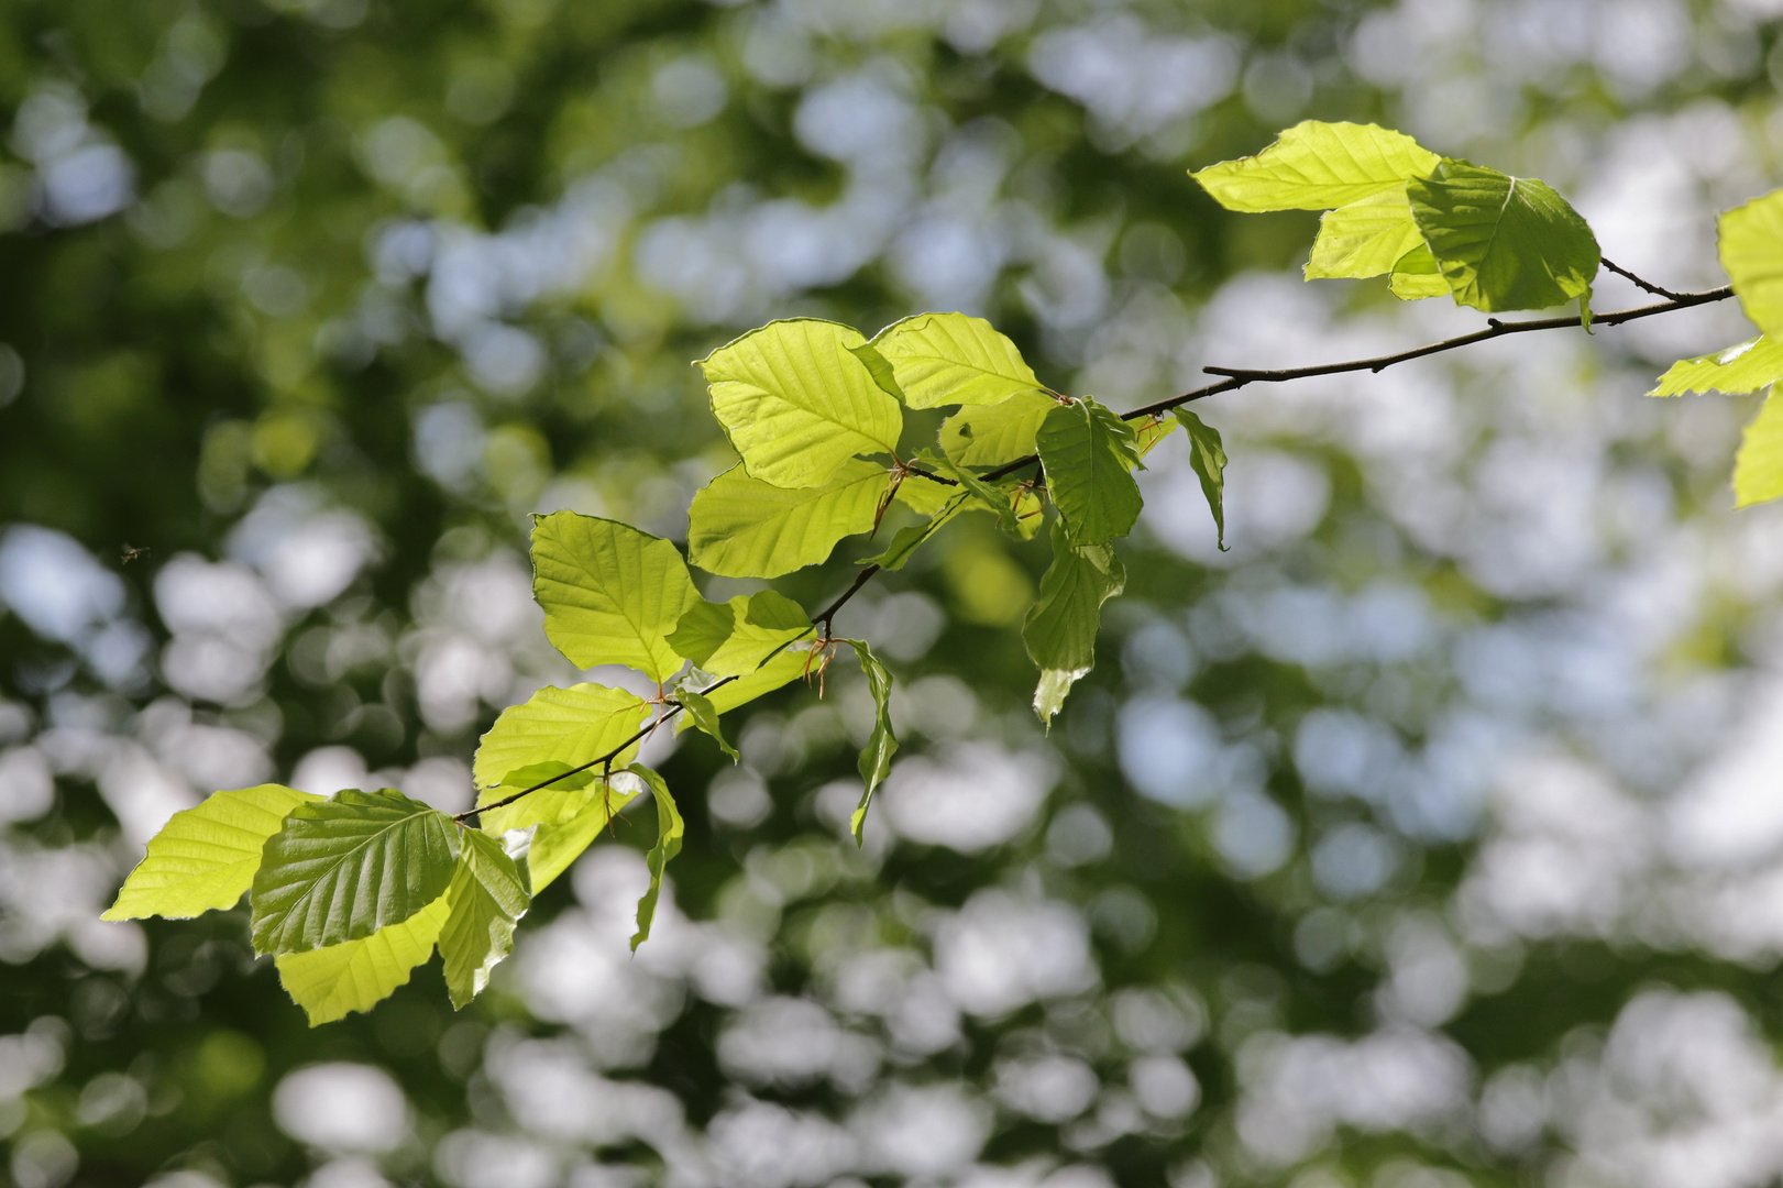
{"type": "Polygon", "coordinates": [[[1328,210],[1425,177],[1441,159],[1373,123],[1307,120],[1255,157],[1191,177],[1227,210],[1328,210]]]}

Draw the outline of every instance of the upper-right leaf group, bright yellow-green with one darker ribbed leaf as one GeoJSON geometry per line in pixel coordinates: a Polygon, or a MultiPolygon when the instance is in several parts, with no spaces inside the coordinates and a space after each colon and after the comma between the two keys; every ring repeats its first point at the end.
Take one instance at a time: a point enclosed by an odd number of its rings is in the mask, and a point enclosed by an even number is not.
{"type": "Polygon", "coordinates": [[[1389,275],[1403,300],[1450,294],[1485,312],[1589,309],[1598,241],[1553,187],[1400,132],[1309,120],[1193,177],[1232,210],[1327,210],[1309,280],[1389,275]]]}

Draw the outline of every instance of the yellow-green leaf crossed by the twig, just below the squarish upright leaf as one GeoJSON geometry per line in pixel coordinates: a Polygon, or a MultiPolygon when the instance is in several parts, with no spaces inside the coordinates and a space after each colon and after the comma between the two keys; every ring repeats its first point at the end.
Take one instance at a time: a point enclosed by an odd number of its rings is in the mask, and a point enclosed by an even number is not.
{"type": "MultiPolygon", "coordinates": [[[[537,763],[556,762],[563,763],[563,769],[592,763],[637,735],[647,714],[645,701],[624,689],[606,685],[540,689],[524,703],[503,710],[478,744],[476,758],[471,762],[471,776],[483,790],[478,803],[490,804],[538,783],[538,780],[510,783],[515,772],[533,769],[537,763]]],[[[637,742],[613,756],[613,767],[629,763],[635,755],[637,742]]],[[[540,788],[508,808],[485,813],[483,828],[506,833],[556,819],[560,804],[553,803],[553,797],[574,792],[574,787],[562,783],[540,788]]]]}

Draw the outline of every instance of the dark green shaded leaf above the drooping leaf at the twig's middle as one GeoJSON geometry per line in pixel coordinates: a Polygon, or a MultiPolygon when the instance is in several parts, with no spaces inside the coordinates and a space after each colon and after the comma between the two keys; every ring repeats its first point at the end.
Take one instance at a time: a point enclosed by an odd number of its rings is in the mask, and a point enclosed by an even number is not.
{"type": "Polygon", "coordinates": [[[1034,437],[1047,491],[1073,544],[1125,537],[1139,519],[1139,453],[1132,426],[1093,400],[1057,405],[1034,437]]]}

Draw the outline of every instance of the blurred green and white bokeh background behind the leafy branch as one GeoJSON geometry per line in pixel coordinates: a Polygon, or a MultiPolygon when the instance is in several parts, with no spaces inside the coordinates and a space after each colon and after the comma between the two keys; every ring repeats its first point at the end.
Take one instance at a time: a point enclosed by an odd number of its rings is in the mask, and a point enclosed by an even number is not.
{"type": "MultiPolygon", "coordinates": [[[[1298,278],[1186,169],[1302,118],[1539,175],[1722,284],[1783,182],[1778,0],[0,5],[0,1179],[18,1188],[1744,1188],[1783,1174],[1783,512],[1713,307],[1207,401],[1045,737],[1045,564],[966,517],[453,1013],[310,1031],[246,917],[100,924],[219,787],[469,801],[574,680],[526,514],[685,533],[688,360],[990,316],[1130,407],[1473,328],[1298,278]],[[148,549],[128,564],[127,549],[148,549]]],[[[1598,309],[1635,303],[1615,278],[1598,309]]],[[[982,517],[979,517],[982,519],[982,517]]],[[[865,551],[779,589],[818,605],[865,551]]],[[[724,596],[744,589],[713,583],[724,596]]],[[[596,678],[612,674],[597,672],[596,678]]]]}

